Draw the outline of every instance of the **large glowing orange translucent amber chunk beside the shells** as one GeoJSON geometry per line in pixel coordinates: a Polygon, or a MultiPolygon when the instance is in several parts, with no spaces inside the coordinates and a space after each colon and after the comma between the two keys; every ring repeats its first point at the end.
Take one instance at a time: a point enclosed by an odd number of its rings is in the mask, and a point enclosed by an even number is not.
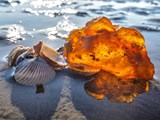
{"type": "Polygon", "coordinates": [[[144,37],[134,28],[118,27],[99,17],[71,31],[66,42],[64,56],[69,64],[86,64],[125,79],[153,78],[144,37]]]}

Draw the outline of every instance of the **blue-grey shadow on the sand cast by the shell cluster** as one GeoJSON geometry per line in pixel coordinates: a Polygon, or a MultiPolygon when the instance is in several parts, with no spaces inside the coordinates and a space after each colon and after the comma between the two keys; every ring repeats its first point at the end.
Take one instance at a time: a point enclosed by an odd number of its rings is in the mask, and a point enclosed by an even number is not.
{"type": "Polygon", "coordinates": [[[23,113],[25,120],[50,120],[57,107],[62,89],[62,75],[46,84],[45,93],[36,94],[36,87],[16,83],[6,71],[6,81],[12,84],[11,103],[23,113]],[[58,78],[58,79],[57,79],[58,78]]]}

